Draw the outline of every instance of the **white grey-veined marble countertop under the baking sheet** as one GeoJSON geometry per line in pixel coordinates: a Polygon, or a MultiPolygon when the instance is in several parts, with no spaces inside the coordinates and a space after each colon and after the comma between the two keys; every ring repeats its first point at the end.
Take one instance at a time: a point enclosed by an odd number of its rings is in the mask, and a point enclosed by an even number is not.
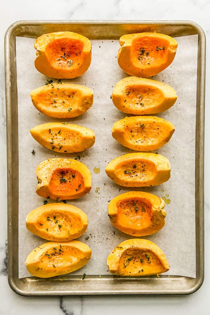
{"type": "MultiPolygon", "coordinates": [[[[205,279],[201,288],[186,296],[96,296],[96,297],[23,297],[15,294],[7,282],[7,184],[6,184],[6,122],[4,91],[3,37],[10,24],[17,20],[191,20],[198,23],[206,33],[207,56],[210,53],[210,2],[208,0],[78,0],[75,2],[24,0],[4,1],[0,12],[0,188],[2,192],[0,229],[0,313],[1,314],[209,314],[210,295],[210,164],[208,162],[210,135],[210,96],[206,95],[205,128],[205,279]]],[[[210,83],[210,62],[207,58],[206,86],[210,83]]]]}

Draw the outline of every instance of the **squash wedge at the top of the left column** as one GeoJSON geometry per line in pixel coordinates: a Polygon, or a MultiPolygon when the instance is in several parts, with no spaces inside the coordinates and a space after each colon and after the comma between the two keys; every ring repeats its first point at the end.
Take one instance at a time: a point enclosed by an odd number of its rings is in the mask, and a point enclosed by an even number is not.
{"type": "Polygon", "coordinates": [[[35,41],[35,67],[45,76],[71,79],[85,73],[91,62],[91,42],[73,32],[43,34],[35,41]]]}

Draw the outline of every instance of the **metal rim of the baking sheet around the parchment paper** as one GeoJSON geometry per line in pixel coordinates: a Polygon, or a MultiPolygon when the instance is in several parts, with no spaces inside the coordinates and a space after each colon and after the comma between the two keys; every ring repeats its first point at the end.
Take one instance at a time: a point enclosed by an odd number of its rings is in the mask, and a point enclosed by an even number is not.
{"type": "Polygon", "coordinates": [[[17,21],[5,34],[5,89],[7,116],[8,188],[8,281],[10,287],[26,296],[67,295],[172,295],[198,290],[204,279],[204,108],[206,38],[202,28],[191,21],[17,21]],[[49,279],[18,277],[18,103],[15,37],[38,37],[55,30],[81,32],[90,39],[119,38],[122,34],[159,31],[178,37],[198,34],[196,96],[196,278],[155,276],[129,278],[106,276],[60,276],[49,279]],[[92,35],[91,35],[92,34],[92,35]]]}

